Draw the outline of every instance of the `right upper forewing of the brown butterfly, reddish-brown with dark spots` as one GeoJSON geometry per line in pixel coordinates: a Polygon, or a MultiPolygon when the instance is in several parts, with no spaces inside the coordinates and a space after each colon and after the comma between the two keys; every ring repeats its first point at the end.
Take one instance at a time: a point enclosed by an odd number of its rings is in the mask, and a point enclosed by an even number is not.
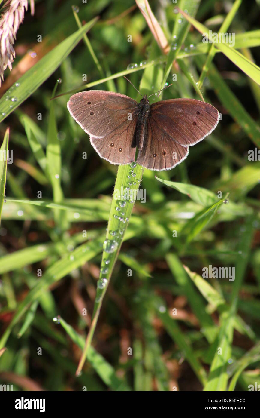
{"type": "Polygon", "coordinates": [[[170,99],[150,107],[151,125],[159,125],[183,146],[194,145],[209,135],[220,114],[209,103],[195,99],[170,99]]]}

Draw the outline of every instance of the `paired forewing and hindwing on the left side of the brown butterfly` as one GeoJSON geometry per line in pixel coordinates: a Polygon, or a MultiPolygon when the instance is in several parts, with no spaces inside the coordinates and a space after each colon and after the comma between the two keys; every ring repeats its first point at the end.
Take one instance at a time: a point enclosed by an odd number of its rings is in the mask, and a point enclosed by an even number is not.
{"type": "Polygon", "coordinates": [[[113,164],[134,161],[136,108],[130,97],[101,90],[76,93],[68,101],[71,116],[89,134],[95,150],[113,164]]]}

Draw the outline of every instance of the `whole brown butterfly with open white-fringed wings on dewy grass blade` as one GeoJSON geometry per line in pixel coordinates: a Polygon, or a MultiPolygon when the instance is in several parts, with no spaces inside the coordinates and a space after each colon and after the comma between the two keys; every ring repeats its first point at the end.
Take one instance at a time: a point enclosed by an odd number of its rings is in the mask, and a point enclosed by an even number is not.
{"type": "Polygon", "coordinates": [[[169,99],[150,105],[149,97],[144,95],[137,103],[124,94],[89,90],[73,94],[67,106],[101,158],[129,164],[135,161],[137,147],[138,164],[169,170],[187,157],[189,145],[215,129],[220,114],[200,100],[169,99]]]}

